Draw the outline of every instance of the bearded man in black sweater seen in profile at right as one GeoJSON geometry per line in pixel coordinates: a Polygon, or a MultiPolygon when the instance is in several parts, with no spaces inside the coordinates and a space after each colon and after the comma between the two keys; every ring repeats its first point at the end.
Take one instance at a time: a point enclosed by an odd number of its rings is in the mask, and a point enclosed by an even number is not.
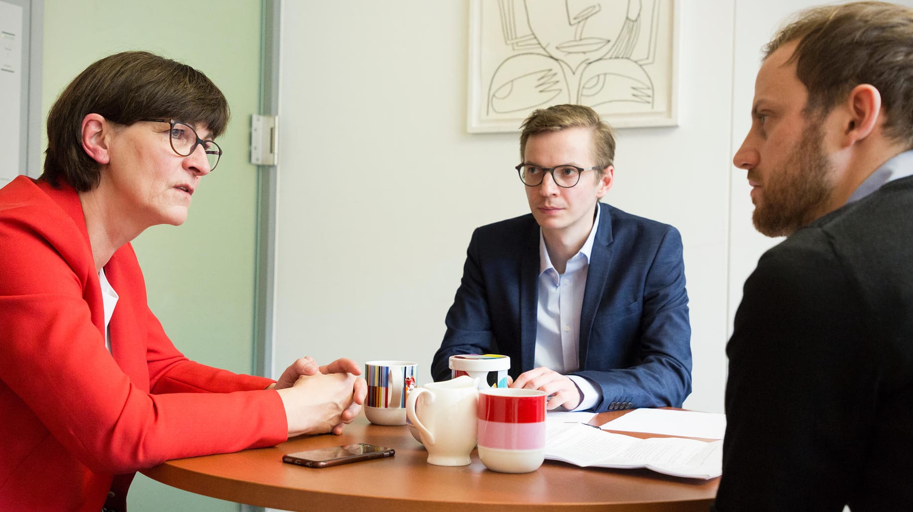
{"type": "Polygon", "coordinates": [[[787,235],[727,346],[714,509],[913,510],[913,9],[803,11],[771,40],[736,153],[787,235]]]}

